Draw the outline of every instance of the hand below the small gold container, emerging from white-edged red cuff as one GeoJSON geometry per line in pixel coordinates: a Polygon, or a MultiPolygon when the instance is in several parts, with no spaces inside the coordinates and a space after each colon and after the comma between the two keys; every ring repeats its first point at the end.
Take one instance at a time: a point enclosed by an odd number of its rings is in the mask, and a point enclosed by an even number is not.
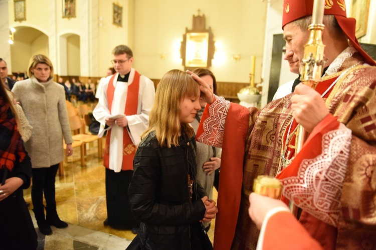
{"type": "Polygon", "coordinates": [[[261,228],[262,223],[265,219],[266,213],[275,207],[285,207],[288,209],[287,205],[279,199],[273,199],[267,196],[263,196],[252,192],[249,195],[249,209],[248,213],[253,222],[255,222],[257,228],[261,228]]]}

